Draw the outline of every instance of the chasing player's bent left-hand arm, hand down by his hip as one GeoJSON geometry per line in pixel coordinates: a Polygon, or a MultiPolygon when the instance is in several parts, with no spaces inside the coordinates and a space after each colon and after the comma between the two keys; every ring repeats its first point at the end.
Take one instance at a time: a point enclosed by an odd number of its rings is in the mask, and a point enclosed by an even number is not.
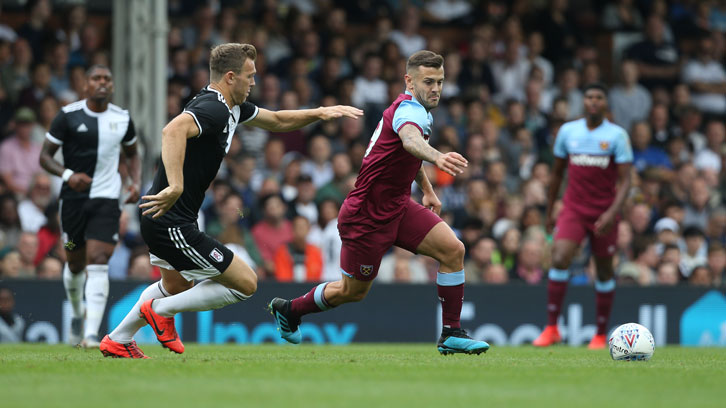
{"type": "Polygon", "coordinates": [[[201,129],[188,113],[180,113],[161,131],[161,160],[166,169],[169,186],[158,194],[141,197],[146,202],[139,205],[143,215],[159,218],[174,206],[184,192],[184,153],[187,139],[197,136],[201,129]]]}

